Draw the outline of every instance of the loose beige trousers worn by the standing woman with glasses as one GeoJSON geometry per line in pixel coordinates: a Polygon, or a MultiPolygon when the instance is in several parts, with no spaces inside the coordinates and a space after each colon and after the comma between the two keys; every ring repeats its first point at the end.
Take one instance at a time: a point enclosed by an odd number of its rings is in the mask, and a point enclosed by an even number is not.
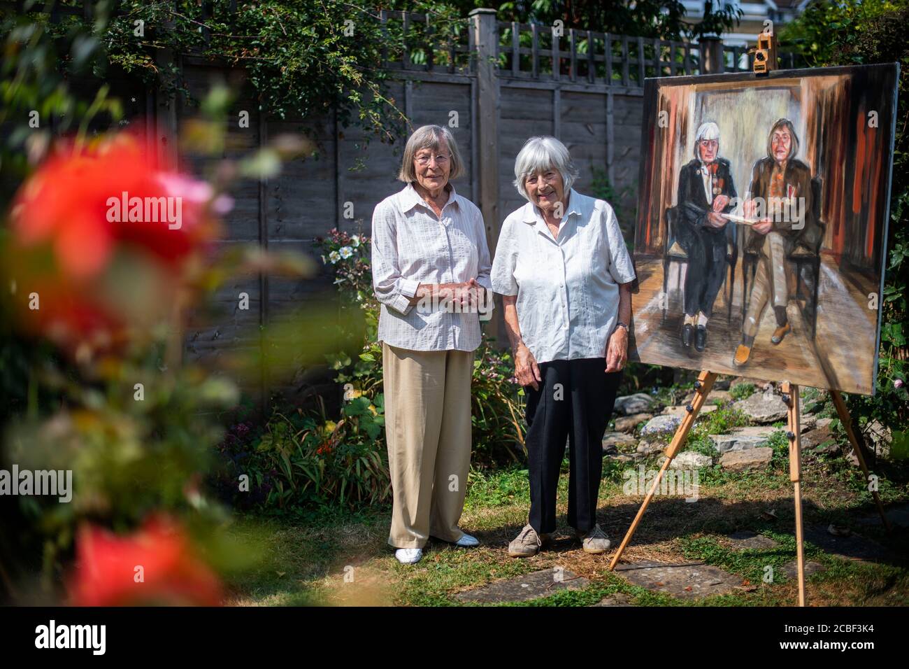
{"type": "Polygon", "coordinates": [[[432,535],[456,542],[470,469],[474,353],[382,344],[385,439],[395,548],[423,548],[432,535]]]}

